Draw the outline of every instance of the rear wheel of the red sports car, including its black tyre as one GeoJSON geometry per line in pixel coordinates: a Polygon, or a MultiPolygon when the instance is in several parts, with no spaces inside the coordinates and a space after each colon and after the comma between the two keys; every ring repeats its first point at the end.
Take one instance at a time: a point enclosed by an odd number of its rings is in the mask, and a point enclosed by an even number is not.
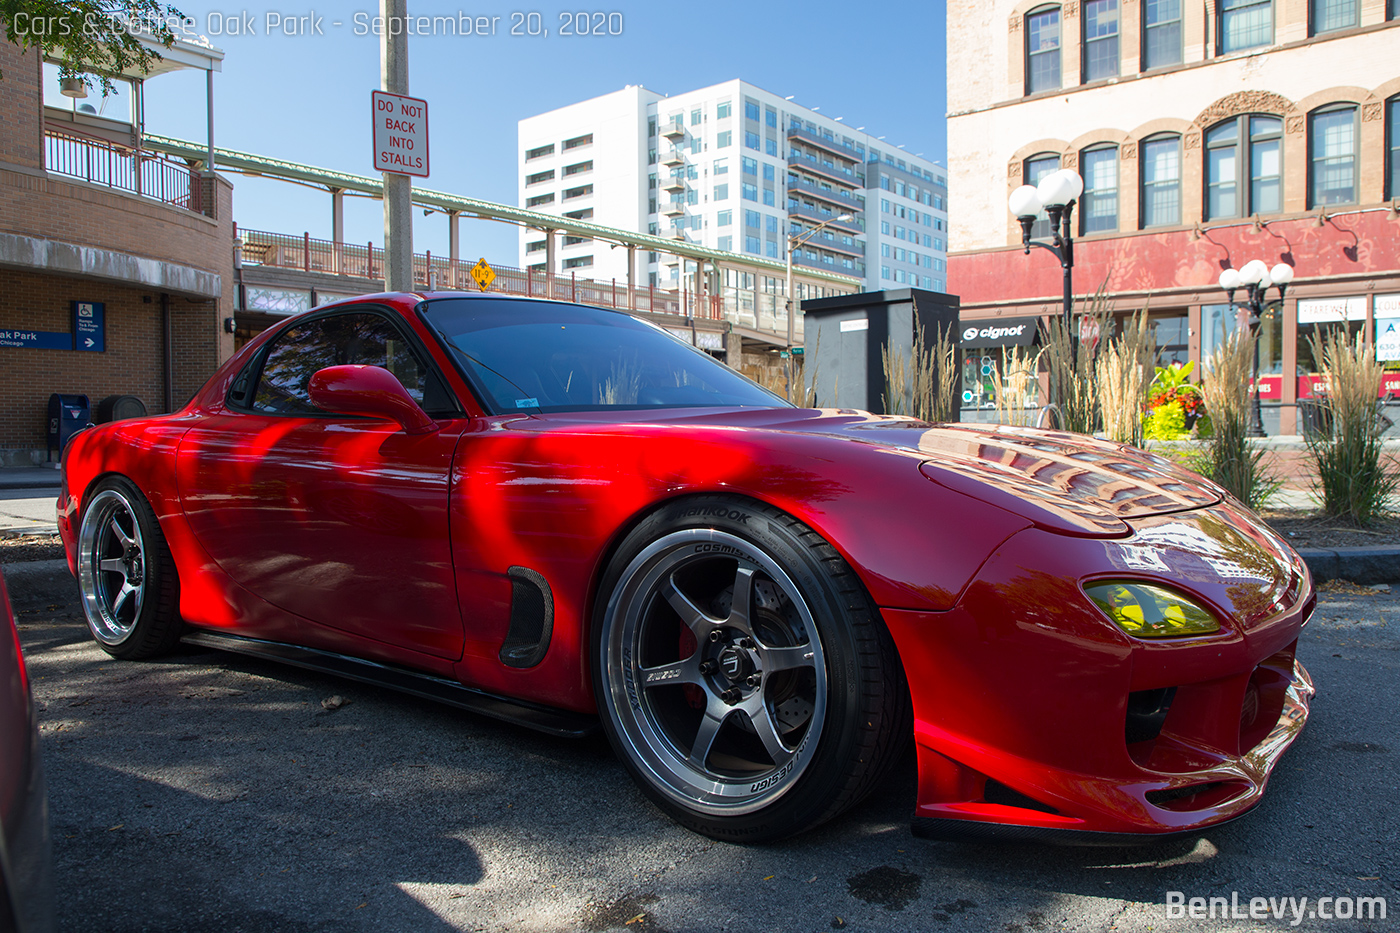
{"type": "Polygon", "coordinates": [[[182,629],[175,562],[134,483],[122,476],[98,483],[77,551],[83,614],[102,650],[134,660],[175,646],[182,629]]]}

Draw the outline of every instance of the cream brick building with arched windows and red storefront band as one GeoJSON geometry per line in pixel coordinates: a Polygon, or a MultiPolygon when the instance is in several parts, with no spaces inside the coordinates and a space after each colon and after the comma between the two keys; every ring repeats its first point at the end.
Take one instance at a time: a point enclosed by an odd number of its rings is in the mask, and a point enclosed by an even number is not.
{"type": "Polygon", "coordinates": [[[1285,262],[1260,331],[1267,433],[1298,430],[1319,328],[1366,333],[1400,395],[1376,339],[1400,329],[1400,1],[951,0],[948,34],[965,318],[1060,311],[1058,262],[1022,254],[1007,196],[1072,168],[1074,291],[1149,307],[1163,361],[1239,326],[1222,269],[1285,262]]]}

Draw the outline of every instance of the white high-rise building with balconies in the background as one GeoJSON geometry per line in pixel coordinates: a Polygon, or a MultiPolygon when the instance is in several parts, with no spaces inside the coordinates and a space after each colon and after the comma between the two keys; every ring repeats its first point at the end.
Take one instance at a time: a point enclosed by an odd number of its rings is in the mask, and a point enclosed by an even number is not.
{"type": "MultiPolygon", "coordinates": [[[[788,234],[830,221],[795,266],[867,290],[946,289],[946,171],[739,80],[671,97],[629,85],[521,120],[519,203],[780,262],[788,234]]],[[[522,268],[546,270],[550,249],[540,231],[521,231],[522,268]]],[[[626,249],[564,237],[553,252],[554,273],[627,280],[626,249]]],[[[638,252],[633,272],[659,287],[685,275],[657,252],[638,252]]],[[[780,277],[727,284],[783,289],[780,277]]]]}

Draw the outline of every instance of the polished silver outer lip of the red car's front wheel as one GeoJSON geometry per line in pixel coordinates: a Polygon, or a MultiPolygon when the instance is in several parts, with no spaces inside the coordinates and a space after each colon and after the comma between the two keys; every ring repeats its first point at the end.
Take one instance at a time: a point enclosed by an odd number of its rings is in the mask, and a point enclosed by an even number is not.
{"type": "MultiPolygon", "coordinates": [[[[603,651],[603,677],[608,689],[606,716],[617,737],[627,745],[629,755],[648,776],[650,785],[675,803],[711,817],[735,817],[762,810],[790,792],[805,773],[816,755],[827,709],[827,672],[822,650],[820,633],[812,611],[791,576],[762,548],[752,542],[710,528],[690,528],[664,535],[641,551],[623,572],[608,602],[603,651]],[[715,548],[710,556],[700,556],[696,545],[715,548]],[[720,551],[722,549],[722,551],[720,551]],[[647,686],[640,675],[640,664],[634,664],[637,646],[643,633],[643,622],[648,607],[661,595],[661,584],[671,573],[692,560],[714,559],[714,556],[735,558],[762,572],[781,588],[797,608],[802,626],[808,633],[806,647],[811,651],[811,667],[815,674],[815,695],[812,716],[802,740],[791,756],[780,766],[759,772],[743,779],[720,775],[696,768],[683,748],[668,737],[647,699],[647,686]]],[[[762,656],[762,646],[756,654],[762,656]]],[[[694,657],[699,657],[697,650],[694,657]]],[[[693,660],[693,658],[692,658],[693,660]]],[[[718,696],[710,686],[701,686],[707,703],[718,696]]],[[[762,688],[731,703],[736,710],[757,710],[764,703],[762,688]]],[[[708,706],[707,706],[708,709],[708,706]]],[[[699,740],[699,737],[697,737],[699,740]]]]}

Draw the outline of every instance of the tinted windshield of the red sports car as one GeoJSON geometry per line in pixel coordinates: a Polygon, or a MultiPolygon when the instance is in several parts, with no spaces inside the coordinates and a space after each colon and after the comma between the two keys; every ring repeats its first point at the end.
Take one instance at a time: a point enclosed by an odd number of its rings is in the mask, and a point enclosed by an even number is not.
{"type": "Polygon", "coordinates": [[[788,408],[701,350],[617,311],[438,298],[423,315],[493,413],[788,408]]]}

